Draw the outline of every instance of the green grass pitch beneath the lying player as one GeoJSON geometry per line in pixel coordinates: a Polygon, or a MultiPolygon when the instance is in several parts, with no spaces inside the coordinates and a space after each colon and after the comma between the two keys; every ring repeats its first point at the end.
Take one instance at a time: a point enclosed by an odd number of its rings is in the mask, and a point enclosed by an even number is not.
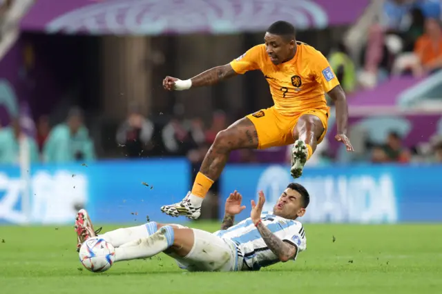
{"type": "Polygon", "coordinates": [[[0,226],[0,293],[442,293],[442,225],[305,230],[296,262],[260,272],[187,273],[161,254],[96,274],[78,260],[73,228],[0,226]]]}

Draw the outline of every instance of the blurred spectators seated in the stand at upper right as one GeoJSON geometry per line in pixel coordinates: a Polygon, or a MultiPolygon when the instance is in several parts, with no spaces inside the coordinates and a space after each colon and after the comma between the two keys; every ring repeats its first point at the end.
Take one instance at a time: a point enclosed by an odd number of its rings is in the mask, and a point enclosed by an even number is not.
{"type": "Polygon", "coordinates": [[[360,60],[344,42],[328,59],[347,93],[374,88],[388,77],[430,75],[442,68],[440,0],[386,0],[367,30],[360,60]],[[361,66],[358,66],[361,65],[361,66]]]}

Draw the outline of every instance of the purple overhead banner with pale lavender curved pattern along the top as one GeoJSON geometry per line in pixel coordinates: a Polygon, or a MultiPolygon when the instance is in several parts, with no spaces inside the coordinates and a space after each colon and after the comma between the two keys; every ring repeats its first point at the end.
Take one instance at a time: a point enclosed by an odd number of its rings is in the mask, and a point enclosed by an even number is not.
{"type": "Polygon", "coordinates": [[[77,12],[69,23],[75,26],[75,32],[86,33],[259,31],[265,30],[269,23],[279,19],[293,21],[298,23],[298,26],[306,27],[342,25],[356,21],[369,0],[247,0],[252,8],[242,11],[245,2],[206,0],[204,5],[196,5],[197,2],[192,0],[38,0],[21,21],[21,28],[64,31],[67,27],[66,22],[55,29],[49,29],[48,24],[57,17],[80,9],[81,12],[77,12]],[[97,6],[98,9],[95,9],[97,6]],[[135,9],[130,10],[135,6],[135,9]],[[294,11],[302,14],[302,17],[296,18],[294,11]],[[320,17],[321,13],[327,15],[328,21],[320,25],[315,24],[314,15],[324,20],[320,17]],[[191,14],[191,17],[186,19],[186,14],[191,14]],[[303,17],[308,20],[305,25],[301,24],[303,17]]]}

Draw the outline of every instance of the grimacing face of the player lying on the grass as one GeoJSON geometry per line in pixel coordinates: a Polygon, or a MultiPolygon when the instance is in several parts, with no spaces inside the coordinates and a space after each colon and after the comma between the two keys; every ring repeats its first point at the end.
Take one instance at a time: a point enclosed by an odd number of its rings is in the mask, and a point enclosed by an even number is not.
{"type": "Polygon", "coordinates": [[[305,214],[305,208],[302,208],[302,196],[291,188],[285,189],[273,207],[273,213],[286,219],[296,219],[305,214]]]}

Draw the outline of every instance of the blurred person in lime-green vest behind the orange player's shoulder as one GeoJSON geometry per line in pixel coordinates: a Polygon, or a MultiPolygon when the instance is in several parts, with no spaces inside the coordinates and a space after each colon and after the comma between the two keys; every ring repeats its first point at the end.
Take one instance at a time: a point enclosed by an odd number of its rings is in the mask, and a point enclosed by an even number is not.
{"type": "Polygon", "coordinates": [[[347,94],[353,92],[356,88],[355,66],[342,41],[332,50],[328,59],[344,91],[347,94]]]}

